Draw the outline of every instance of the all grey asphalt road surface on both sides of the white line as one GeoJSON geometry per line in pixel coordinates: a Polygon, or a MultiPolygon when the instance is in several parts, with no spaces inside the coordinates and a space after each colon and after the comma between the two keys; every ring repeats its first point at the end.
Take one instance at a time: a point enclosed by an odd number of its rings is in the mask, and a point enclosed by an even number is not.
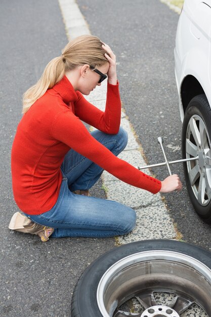
{"type": "MultiPolygon", "coordinates": [[[[91,32],[117,56],[121,98],[150,163],[163,161],[157,136],[169,159],[179,159],[181,122],[174,78],[178,15],[158,0],[78,0],[91,32]]],[[[12,232],[18,211],[12,194],[10,151],[21,118],[21,96],[67,42],[57,0],[1,1],[1,273],[0,316],[69,316],[73,287],[81,272],[114,247],[113,239],[50,239],[12,232]]],[[[154,170],[162,179],[166,170],[154,170]]],[[[184,183],[182,166],[177,172],[184,183]]],[[[95,194],[103,196],[100,184],[95,194]]],[[[184,188],[165,196],[183,239],[209,248],[210,226],[194,213],[184,188]]]]}

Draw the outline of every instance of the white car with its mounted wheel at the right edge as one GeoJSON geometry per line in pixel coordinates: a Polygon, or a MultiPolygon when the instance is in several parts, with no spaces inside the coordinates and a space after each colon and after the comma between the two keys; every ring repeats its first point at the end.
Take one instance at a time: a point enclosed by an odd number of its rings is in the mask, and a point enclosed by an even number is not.
{"type": "Polygon", "coordinates": [[[187,190],[195,211],[211,222],[211,0],[185,0],[179,18],[175,75],[183,122],[187,190]]]}

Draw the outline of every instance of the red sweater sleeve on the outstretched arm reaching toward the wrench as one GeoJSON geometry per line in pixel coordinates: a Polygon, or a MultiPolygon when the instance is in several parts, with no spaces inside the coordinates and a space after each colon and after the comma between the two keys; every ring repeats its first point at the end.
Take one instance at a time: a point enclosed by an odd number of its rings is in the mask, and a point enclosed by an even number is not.
{"type": "Polygon", "coordinates": [[[79,118],[72,112],[66,111],[57,114],[51,133],[53,138],[67,144],[125,183],[152,193],[157,193],[160,190],[161,182],[159,180],[118,159],[92,137],[79,118]]]}

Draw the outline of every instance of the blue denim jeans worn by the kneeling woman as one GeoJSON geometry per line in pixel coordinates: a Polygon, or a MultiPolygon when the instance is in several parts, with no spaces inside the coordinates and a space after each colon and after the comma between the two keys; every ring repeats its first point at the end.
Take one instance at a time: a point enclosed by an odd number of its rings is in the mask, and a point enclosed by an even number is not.
{"type": "MultiPolygon", "coordinates": [[[[128,142],[128,135],[122,128],[116,135],[97,130],[92,136],[115,155],[128,142]]],[[[40,215],[26,214],[34,222],[55,228],[52,237],[107,237],[122,235],[134,228],[136,213],[132,208],[72,192],[91,188],[103,172],[101,167],[71,149],[65,155],[61,171],[63,179],[54,207],[40,215]]]]}

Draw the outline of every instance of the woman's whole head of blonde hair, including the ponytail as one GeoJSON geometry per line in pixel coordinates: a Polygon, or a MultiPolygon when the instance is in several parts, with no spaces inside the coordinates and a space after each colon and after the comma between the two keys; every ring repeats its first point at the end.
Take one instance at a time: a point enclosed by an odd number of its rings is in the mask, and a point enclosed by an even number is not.
{"type": "Polygon", "coordinates": [[[97,36],[92,35],[81,35],[69,42],[62,50],[62,55],[52,59],[38,82],[24,93],[22,112],[27,112],[38,98],[60,82],[66,71],[84,64],[96,68],[105,65],[108,60],[104,56],[102,44],[97,36]]]}

